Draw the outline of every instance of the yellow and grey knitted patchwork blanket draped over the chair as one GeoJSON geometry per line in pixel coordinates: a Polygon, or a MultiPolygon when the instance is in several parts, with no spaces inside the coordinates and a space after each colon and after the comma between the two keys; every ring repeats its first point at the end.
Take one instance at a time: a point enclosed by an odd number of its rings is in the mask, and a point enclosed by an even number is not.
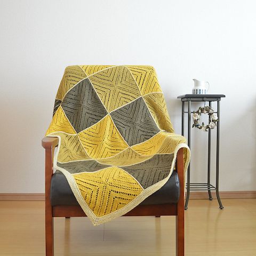
{"type": "Polygon", "coordinates": [[[61,171],[94,225],[119,217],[170,178],[186,139],[177,135],[150,66],[69,66],[46,132],[61,171]]]}

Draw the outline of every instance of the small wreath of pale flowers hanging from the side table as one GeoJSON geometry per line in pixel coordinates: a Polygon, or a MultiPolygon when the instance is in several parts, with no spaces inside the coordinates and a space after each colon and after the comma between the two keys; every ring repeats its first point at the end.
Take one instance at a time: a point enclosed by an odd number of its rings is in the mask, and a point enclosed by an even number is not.
{"type": "Polygon", "coordinates": [[[214,113],[214,110],[209,106],[199,107],[197,111],[193,112],[193,120],[194,124],[192,125],[192,127],[196,127],[200,130],[207,132],[209,129],[214,129],[217,126],[218,115],[214,113]],[[209,115],[209,124],[199,124],[200,116],[202,113],[209,115]]]}

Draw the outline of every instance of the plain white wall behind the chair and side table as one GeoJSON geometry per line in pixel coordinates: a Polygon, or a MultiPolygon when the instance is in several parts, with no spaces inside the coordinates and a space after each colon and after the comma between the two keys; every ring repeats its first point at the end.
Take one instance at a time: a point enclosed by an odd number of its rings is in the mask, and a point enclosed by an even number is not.
{"type": "MultiPolygon", "coordinates": [[[[177,133],[177,95],[190,93],[193,78],[209,81],[210,93],[227,95],[220,190],[256,190],[255,1],[0,4],[0,193],[44,192],[41,139],[63,70],[76,64],[153,65],[177,133]]],[[[207,133],[192,135],[192,180],[202,182],[207,133]]]]}

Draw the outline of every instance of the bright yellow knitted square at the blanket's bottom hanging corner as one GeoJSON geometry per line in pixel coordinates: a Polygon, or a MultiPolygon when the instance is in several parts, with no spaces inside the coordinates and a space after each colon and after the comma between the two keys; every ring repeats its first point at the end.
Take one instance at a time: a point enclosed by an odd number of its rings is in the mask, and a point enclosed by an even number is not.
{"type": "Polygon", "coordinates": [[[73,174],[73,177],[86,204],[97,217],[121,209],[143,190],[131,175],[118,167],[73,174]]]}

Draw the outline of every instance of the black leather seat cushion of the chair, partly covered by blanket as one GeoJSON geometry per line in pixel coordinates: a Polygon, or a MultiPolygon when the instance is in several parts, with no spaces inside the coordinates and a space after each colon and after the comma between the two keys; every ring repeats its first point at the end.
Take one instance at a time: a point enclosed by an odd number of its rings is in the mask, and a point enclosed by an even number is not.
{"type": "MultiPolygon", "coordinates": [[[[180,195],[180,184],[177,172],[173,171],[170,179],[154,194],[147,197],[141,205],[176,204],[180,195]]],[[[51,203],[55,205],[79,205],[68,185],[66,177],[56,171],[51,181],[51,203]]]]}

